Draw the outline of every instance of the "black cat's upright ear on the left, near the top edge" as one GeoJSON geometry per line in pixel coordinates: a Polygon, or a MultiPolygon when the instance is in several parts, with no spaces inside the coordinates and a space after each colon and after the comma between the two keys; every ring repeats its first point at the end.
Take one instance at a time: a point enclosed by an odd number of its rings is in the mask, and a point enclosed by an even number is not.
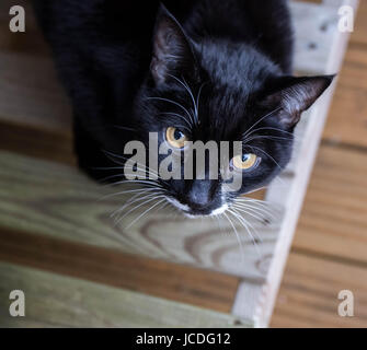
{"type": "Polygon", "coordinates": [[[172,75],[194,73],[196,60],[193,45],[176,19],[160,5],[153,35],[153,57],[150,71],[157,84],[172,75]]]}

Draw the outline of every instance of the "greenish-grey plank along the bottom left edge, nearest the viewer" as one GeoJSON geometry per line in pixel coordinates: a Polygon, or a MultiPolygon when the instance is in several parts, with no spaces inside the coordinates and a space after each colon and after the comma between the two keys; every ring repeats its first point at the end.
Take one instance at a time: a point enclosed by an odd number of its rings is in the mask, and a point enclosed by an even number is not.
{"type": "Polygon", "coordinates": [[[225,313],[0,262],[0,327],[246,327],[225,313]],[[25,294],[25,317],[9,315],[9,293],[25,294]]]}

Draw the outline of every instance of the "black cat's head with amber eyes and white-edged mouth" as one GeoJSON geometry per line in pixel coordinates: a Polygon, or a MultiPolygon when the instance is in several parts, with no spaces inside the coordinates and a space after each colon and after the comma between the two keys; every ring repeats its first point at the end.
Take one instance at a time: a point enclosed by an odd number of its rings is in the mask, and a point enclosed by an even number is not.
{"type": "MultiPolygon", "coordinates": [[[[159,144],[184,152],[184,141],[242,141],[228,163],[241,186],[229,190],[219,174],[204,179],[158,179],[167,199],[188,215],[225,211],[241,194],[268,184],[289,162],[293,132],[303,110],[333,77],[286,77],[253,47],[228,40],[190,38],[161,9],[150,71],[136,101],[140,138],[157,132],[159,144]]],[[[219,147],[218,147],[219,149],[219,147]]],[[[220,153],[220,152],[219,152],[220,153]]],[[[218,154],[218,158],[221,155],[218,154]]],[[[158,156],[158,162],[164,160],[158,156]]]]}

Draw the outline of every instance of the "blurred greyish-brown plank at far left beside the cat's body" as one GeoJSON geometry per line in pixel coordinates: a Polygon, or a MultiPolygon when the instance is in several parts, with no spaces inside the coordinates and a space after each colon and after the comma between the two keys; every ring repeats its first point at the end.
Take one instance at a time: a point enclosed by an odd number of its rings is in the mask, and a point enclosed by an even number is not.
{"type": "Polygon", "coordinates": [[[0,51],[0,69],[3,120],[70,138],[70,106],[49,58],[0,51]]]}

